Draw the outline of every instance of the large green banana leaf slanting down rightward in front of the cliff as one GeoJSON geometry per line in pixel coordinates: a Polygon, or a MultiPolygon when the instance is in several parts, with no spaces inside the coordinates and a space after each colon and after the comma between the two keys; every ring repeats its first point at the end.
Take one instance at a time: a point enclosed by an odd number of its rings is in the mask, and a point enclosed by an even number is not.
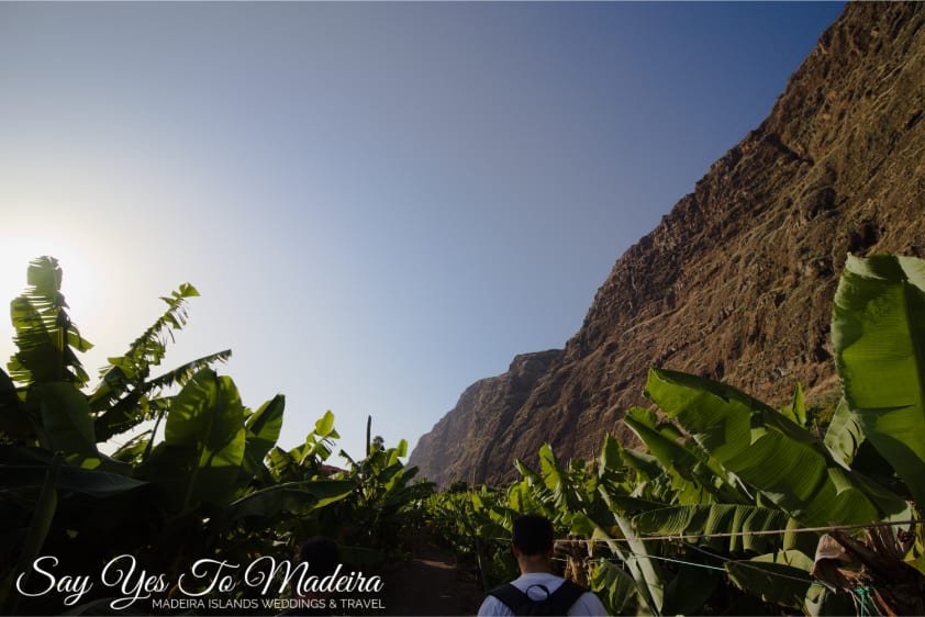
{"type": "Polygon", "coordinates": [[[735,388],[653,369],[646,395],[726,470],[804,525],[907,515],[904,500],[844,469],[811,433],[735,388]]]}

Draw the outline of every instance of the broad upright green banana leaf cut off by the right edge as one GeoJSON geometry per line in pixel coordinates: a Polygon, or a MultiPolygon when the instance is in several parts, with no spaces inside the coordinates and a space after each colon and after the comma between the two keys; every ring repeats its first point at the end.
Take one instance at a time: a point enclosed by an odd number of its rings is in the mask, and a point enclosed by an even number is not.
{"type": "Polygon", "coordinates": [[[849,256],[832,340],[865,436],[925,503],[925,261],[849,256]]]}

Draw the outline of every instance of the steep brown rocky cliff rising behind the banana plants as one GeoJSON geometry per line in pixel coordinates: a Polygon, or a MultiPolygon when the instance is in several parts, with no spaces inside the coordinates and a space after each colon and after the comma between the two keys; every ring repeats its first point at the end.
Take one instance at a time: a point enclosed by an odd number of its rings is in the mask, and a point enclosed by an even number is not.
{"type": "Polygon", "coordinates": [[[649,367],[770,403],[798,382],[811,403],[837,391],[829,319],[845,257],[922,255],[923,112],[925,4],[848,4],[770,116],[616,261],[523,403],[492,392],[505,375],[479,382],[462,396],[480,397],[478,413],[457,406],[411,462],[444,484],[497,483],[544,442],[586,459],[605,434],[633,444],[621,419],[645,404],[649,367]]]}

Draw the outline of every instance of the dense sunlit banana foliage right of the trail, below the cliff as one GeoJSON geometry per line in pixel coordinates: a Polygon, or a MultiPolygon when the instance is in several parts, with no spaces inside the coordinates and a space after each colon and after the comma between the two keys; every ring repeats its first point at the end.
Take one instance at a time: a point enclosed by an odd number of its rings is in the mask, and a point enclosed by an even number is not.
{"type": "Polygon", "coordinates": [[[431,512],[487,584],[516,574],[513,517],[549,516],[572,574],[614,614],[887,614],[903,599],[888,576],[866,572],[857,580],[880,588],[835,593],[813,566],[826,529],[893,521],[887,536],[907,565],[888,565],[922,588],[925,536],[903,521],[918,519],[925,492],[925,262],[849,257],[832,328],[845,397],[822,437],[799,388],[774,410],[653,369],[645,395],[657,411],[624,418],[644,451],[608,438],[598,460],[564,463],[545,446],[539,469],[519,461],[523,480],[506,491],[457,487],[431,512]]]}

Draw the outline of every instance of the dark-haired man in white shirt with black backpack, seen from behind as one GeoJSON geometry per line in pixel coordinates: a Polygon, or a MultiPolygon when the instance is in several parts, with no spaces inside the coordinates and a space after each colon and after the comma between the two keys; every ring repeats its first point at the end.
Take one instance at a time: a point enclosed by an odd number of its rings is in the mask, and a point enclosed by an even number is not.
{"type": "Polygon", "coordinates": [[[521,575],[493,588],[479,615],[606,615],[604,605],[587,588],[550,572],[553,524],[526,514],[514,520],[511,543],[521,575]]]}

